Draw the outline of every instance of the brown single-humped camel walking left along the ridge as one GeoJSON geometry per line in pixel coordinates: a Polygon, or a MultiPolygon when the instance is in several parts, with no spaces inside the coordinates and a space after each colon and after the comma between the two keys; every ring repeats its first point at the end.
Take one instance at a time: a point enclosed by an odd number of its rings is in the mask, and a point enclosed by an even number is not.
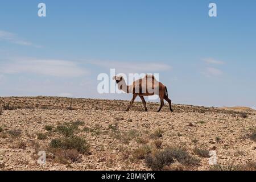
{"type": "Polygon", "coordinates": [[[154,94],[158,95],[160,98],[160,108],[158,109],[158,112],[160,112],[160,110],[164,106],[164,100],[168,102],[171,112],[173,111],[171,104],[172,101],[168,98],[168,91],[166,86],[164,86],[161,82],[158,82],[153,75],[146,75],[145,77],[134,81],[133,84],[128,86],[126,85],[125,79],[123,79],[122,76],[114,76],[113,80],[117,82],[119,90],[123,90],[123,92],[126,93],[133,93],[133,98],[131,99],[130,105],[128,106],[126,111],[130,110],[130,107],[133,105],[133,102],[137,96],[141,98],[144,109],[145,111],[147,111],[144,96],[153,96],[154,94]],[[152,82],[152,84],[150,84],[150,81],[152,82]]]}

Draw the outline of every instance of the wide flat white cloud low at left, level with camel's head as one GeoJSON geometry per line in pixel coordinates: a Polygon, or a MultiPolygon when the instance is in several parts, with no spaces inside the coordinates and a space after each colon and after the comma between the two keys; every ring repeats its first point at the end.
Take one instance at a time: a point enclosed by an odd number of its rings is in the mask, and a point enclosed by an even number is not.
{"type": "Polygon", "coordinates": [[[34,73],[57,77],[77,77],[88,73],[73,61],[66,60],[14,60],[0,64],[0,73],[34,73]]]}

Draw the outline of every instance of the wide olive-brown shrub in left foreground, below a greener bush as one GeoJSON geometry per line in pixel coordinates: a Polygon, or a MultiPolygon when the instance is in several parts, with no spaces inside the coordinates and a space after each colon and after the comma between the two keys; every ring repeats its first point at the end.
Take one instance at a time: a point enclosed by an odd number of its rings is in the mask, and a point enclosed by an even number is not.
{"type": "Polygon", "coordinates": [[[82,154],[89,153],[90,148],[85,139],[77,136],[52,139],[49,146],[52,148],[62,148],[64,150],[75,149],[82,154]]]}

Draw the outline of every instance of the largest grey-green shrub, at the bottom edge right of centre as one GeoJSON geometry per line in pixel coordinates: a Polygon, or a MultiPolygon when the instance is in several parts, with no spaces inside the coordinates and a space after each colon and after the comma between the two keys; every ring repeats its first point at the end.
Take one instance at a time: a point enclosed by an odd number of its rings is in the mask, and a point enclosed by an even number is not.
{"type": "Polygon", "coordinates": [[[164,166],[169,166],[175,160],[185,166],[195,166],[200,160],[189,155],[183,148],[166,148],[156,152],[154,155],[146,156],[146,164],[152,170],[161,170],[164,166]]]}

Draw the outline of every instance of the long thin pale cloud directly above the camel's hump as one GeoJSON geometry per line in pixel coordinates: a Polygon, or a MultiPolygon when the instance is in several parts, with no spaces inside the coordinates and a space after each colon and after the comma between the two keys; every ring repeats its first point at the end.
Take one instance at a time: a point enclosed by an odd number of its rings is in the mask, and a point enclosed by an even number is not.
{"type": "Polygon", "coordinates": [[[152,62],[93,61],[91,63],[108,69],[114,68],[116,72],[121,73],[152,73],[171,69],[170,65],[152,62]]]}

